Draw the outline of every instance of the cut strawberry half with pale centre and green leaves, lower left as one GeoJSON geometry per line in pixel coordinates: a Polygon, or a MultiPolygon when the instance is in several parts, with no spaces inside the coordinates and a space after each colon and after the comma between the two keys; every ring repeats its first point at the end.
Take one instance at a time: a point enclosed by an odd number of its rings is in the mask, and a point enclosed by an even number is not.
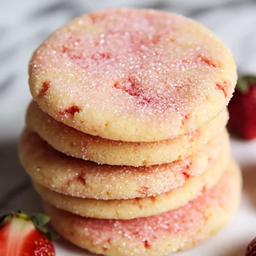
{"type": "Polygon", "coordinates": [[[50,218],[44,214],[27,216],[21,211],[0,218],[1,256],[54,256],[51,234],[44,225],[50,218]]]}

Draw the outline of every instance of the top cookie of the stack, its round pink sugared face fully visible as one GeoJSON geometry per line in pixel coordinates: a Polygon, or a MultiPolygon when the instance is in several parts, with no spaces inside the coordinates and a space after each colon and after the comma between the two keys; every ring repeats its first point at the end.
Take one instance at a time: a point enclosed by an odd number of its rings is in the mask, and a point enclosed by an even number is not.
{"type": "Polygon", "coordinates": [[[195,130],[229,102],[232,54],[183,16],[111,9],[78,17],[34,52],[29,85],[56,120],[109,140],[161,141],[195,130]]]}

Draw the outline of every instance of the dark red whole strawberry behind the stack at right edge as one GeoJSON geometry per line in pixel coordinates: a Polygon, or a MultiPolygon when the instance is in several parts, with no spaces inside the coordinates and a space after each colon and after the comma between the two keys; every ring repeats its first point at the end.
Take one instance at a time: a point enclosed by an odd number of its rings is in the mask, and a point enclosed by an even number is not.
{"type": "Polygon", "coordinates": [[[247,140],[256,138],[256,77],[243,75],[238,78],[229,103],[229,125],[247,140]]]}

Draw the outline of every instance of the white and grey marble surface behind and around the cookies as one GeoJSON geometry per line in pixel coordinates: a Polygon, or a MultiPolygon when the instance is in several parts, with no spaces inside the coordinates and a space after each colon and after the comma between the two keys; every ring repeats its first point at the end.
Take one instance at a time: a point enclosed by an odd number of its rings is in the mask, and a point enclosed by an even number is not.
{"type": "MultiPolygon", "coordinates": [[[[40,211],[40,199],[19,165],[16,141],[31,100],[27,62],[51,31],[75,16],[103,7],[154,7],[179,12],[216,32],[232,50],[240,73],[256,73],[256,2],[246,0],[0,0],[0,214],[14,209],[40,211]]],[[[232,139],[244,173],[244,196],[230,225],[209,242],[179,256],[242,256],[256,236],[256,141],[232,139]],[[254,174],[255,172],[255,174],[254,174]]],[[[62,240],[57,256],[89,255],[62,240]]]]}

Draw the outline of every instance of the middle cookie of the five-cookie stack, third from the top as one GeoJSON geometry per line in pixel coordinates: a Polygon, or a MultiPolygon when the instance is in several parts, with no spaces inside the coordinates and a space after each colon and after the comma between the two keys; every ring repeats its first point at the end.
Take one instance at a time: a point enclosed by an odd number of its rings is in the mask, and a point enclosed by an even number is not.
{"type": "Polygon", "coordinates": [[[140,167],[110,166],[66,156],[29,130],[19,140],[21,164],[35,183],[69,196],[103,200],[156,196],[210,169],[224,169],[229,156],[226,130],[188,158],[140,167]]]}

